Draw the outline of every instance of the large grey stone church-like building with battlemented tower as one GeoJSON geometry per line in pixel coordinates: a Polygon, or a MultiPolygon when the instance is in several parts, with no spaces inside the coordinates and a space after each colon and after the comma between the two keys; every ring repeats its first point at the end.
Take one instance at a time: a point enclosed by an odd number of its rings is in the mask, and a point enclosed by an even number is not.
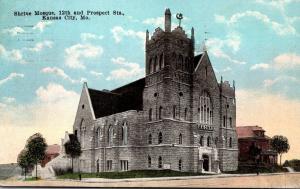
{"type": "Polygon", "coordinates": [[[194,55],[182,27],[146,32],[145,77],[117,89],[83,85],[73,126],[82,172],[171,169],[233,171],[238,166],[235,87],[218,83],[208,54],[194,55]]]}

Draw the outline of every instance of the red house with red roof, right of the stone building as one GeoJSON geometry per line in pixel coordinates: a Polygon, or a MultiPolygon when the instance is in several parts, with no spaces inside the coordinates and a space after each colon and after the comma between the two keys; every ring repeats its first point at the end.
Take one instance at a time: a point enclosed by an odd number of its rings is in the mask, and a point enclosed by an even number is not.
{"type": "Polygon", "coordinates": [[[253,164],[250,157],[250,147],[255,145],[261,149],[260,162],[272,165],[277,162],[277,153],[271,149],[271,138],[265,135],[265,130],[259,126],[239,126],[236,128],[239,141],[239,164],[253,164]]]}

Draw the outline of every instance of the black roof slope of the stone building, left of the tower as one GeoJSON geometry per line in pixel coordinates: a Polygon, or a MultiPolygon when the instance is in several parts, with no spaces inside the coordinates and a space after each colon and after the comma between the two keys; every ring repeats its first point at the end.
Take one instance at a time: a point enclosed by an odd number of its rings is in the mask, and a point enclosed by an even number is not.
{"type": "Polygon", "coordinates": [[[112,91],[88,88],[96,119],[127,110],[143,109],[145,78],[112,91]]]}

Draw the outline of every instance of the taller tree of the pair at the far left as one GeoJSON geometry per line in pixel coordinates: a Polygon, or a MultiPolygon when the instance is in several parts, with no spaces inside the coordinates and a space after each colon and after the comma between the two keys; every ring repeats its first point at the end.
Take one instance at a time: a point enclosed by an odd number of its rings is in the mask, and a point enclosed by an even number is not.
{"type": "Polygon", "coordinates": [[[37,180],[37,164],[45,157],[46,140],[40,133],[35,133],[27,140],[26,148],[33,164],[35,164],[35,178],[37,180]]]}

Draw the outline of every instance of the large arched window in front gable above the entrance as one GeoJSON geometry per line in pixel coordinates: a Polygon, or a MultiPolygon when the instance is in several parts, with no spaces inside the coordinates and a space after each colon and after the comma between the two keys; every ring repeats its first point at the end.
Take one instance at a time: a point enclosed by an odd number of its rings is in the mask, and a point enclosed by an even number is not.
{"type": "Polygon", "coordinates": [[[200,123],[212,124],[213,123],[213,107],[209,94],[204,91],[200,96],[200,123]]]}

